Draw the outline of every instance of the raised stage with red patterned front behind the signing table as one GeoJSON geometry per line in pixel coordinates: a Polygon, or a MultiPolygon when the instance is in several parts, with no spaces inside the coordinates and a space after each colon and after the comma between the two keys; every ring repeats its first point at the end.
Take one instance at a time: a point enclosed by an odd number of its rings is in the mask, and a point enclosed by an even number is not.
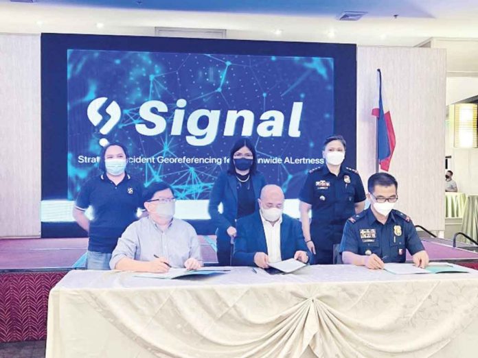
{"type": "MultiPolygon", "coordinates": [[[[216,237],[199,239],[205,264],[216,264],[216,237]]],[[[431,261],[478,269],[477,252],[422,241],[431,261]]],[[[0,239],[0,342],[45,339],[49,291],[69,270],[84,269],[87,246],[87,238],[0,239]]]]}

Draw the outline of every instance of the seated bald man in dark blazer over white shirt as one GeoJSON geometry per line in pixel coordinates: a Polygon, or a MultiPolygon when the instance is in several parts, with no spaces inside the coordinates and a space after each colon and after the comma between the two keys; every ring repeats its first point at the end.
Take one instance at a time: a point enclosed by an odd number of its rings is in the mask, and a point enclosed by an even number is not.
{"type": "Polygon", "coordinates": [[[260,210],[237,223],[233,265],[269,268],[269,263],[296,259],[308,263],[307,249],[298,220],[282,213],[284,193],[277,185],[266,185],[258,199],[260,210]]]}

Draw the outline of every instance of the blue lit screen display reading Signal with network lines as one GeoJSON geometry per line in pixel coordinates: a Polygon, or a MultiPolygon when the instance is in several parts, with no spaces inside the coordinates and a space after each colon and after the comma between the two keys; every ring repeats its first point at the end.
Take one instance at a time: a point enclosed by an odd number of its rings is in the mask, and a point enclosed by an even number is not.
{"type": "Polygon", "coordinates": [[[146,186],[207,199],[240,136],[267,182],[297,198],[334,128],[332,58],[70,49],[67,71],[69,199],[115,141],[146,186]]]}

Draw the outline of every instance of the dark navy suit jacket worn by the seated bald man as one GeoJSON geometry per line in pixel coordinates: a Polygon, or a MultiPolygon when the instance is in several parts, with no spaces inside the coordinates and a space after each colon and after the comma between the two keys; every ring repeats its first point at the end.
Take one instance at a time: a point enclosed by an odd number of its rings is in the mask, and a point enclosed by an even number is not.
{"type": "MultiPolygon", "coordinates": [[[[268,254],[266,235],[259,211],[239,219],[237,230],[238,235],[234,241],[234,256],[232,258],[233,265],[255,266],[254,255],[256,252],[268,254]]],[[[312,258],[312,253],[307,249],[304,241],[299,220],[282,214],[280,256],[282,260],[293,259],[298,250],[307,252],[309,258],[312,258]]]]}

